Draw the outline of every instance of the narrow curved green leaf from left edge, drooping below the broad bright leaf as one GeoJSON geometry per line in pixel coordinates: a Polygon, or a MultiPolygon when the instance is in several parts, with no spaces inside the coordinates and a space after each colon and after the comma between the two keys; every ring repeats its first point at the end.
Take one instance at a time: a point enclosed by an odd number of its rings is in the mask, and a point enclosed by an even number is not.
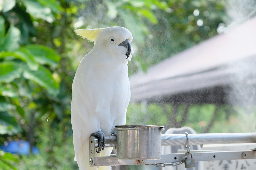
{"type": "Polygon", "coordinates": [[[13,52],[3,51],[0,53],[0,58],[6,58],[6,57],[15,57],[17,59],[25,61],[31,70],[38,69],[38,64],[35,62],[34,56],[26,48],[19,48],[13,52]]]}

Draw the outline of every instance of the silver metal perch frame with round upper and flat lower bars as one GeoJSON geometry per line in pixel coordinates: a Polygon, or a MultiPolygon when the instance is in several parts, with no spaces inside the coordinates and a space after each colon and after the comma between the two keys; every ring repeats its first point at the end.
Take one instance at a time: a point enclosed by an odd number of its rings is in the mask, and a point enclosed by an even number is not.
{"type": "MultiPolygon", "coordinates": [[[[220,133],[220,134],[189,134],[189,144],[242,144],[256,143],[256,133],[220,133]]],[[[186,145],[188,136],[186,134],[162,135],[162,146],[186,145]]],[[[95,157],[95,148],[98,147],[98,139],[90,137],[89,162],[90,166],[116,166],[116,165],[155,165],[164,167],[167,165],[177,166],[184,162],[186,153],[162,154],[160,160],[129,160],[117,159],[116,156],[95,157]],[[170,164],[171,163],[171,164],[170,164]]],[[[105,147],[116,147],[116,136],[106,136],[105,147]]],[[[252,151],[191,151],[195,161],[212,160],[235,160],[235,159],[256,159],[256,148],[252,151]]]]}

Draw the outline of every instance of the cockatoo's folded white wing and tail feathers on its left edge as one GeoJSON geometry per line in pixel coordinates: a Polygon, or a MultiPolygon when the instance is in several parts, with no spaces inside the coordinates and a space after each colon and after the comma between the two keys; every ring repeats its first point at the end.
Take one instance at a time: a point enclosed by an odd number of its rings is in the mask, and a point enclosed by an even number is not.
{"type": "MultiPolygon", "coordinates": [[[[87,54],[89,55],[89,54],[87,54]]],[[[71,101],[71,123],[73,129],[73,144],[75,150],[75,160],[80,170],[98,169],[89,166],[89,137],[92,133],[97,132],[100,122],[94,116],[97,107],[92,102],[92,94],[86,87],[88,75],[85,62],[80,62],[72,85],[72,101],[71,101]]],[[[88,84],[87,84],[88,85],[88,84]]],[[[111,150],[112,151],[112,150],[111,150]]],[[[111,152],[108,148],[102,150],[99,154],[95,152],[95,156],[109,156],[111,152]]],[[[100,169],[109,169],[109,166],[101,166],[100,169]]]]}

